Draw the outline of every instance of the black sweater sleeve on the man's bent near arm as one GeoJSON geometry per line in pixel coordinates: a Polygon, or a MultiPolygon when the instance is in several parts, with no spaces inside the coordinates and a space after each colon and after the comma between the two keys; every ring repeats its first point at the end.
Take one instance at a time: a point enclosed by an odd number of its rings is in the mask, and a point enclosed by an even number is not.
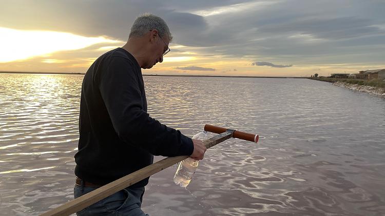
{"type": "Polygon", "coordinates": [[[143,110],[139,81],[133,66],[123,57],[113,57],[99,84],[113,128],[129,145],[153,155],[191,155],[192,140],[179,130],[152,119],[143,110]]]}

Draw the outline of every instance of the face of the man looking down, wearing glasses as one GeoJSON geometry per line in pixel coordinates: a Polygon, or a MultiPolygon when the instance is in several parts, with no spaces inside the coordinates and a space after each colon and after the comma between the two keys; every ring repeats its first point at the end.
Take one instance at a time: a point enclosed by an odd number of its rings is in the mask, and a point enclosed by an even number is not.
{"type": "Polygon", "coordinates": [[[163,62],[163,53],[168,49],[168,37],[165,36],[163,39],[157,34],[154,43],[150,49],[148,63],[144,69],[150,69],[158,62],[163,62]]]}

